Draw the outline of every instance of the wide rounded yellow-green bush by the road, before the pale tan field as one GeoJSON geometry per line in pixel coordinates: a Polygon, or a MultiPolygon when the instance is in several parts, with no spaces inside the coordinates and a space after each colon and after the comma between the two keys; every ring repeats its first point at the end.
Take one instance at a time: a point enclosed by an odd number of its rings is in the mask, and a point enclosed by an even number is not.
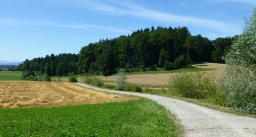
{"type": "Polygon", "coordinates": [[[186,98],[205,99],[216,96],[217,85],[207,73],[183,73],[170,79],[169,88],[186,98]]]}

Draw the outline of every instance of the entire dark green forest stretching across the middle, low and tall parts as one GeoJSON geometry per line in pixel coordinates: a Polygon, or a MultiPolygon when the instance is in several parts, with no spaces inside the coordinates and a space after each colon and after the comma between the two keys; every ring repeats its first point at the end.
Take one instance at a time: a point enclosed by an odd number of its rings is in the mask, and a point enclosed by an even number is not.
{"type": "Polygon", "coordinates": [[[70,73],[110,76],[123,68],[126,72],[175,70],[192,62],[224,63],[235,37],[213,41],[193,36],[187,27],[151,27],[131,35],[101,39],[81,48],[78,54],[59,54],[26,59],[17,70],[24,77],[46,74],[67,76],[70,73]]]}

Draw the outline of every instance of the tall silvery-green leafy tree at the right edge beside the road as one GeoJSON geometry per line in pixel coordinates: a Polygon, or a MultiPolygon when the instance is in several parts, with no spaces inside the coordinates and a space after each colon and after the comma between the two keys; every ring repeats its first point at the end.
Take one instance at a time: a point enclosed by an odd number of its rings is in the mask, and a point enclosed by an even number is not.
{"type": "Polygon", "coordinates": [[[234,110],[256,114],[256,8],[227,54],[220,89],[234,110]]]}

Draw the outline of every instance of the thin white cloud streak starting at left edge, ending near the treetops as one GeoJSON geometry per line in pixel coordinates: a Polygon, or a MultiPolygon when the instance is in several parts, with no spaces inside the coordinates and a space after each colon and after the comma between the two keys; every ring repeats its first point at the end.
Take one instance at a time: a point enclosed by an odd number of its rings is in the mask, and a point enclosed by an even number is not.
{"type": "Polygon", "coordinates": [[[55,21],[38,21],[38,20],[20,20],[20,19],[1,19],[0,24],[5,25],[36,25],[36,26],[52,26],[52,27],[65,27],[65,28],[77,28],[83,30],[104,30],[116,33],[130,33],[132,30],[117,28],[117,27],[105,27],[91,24],[63,24],[55,21]]]}

